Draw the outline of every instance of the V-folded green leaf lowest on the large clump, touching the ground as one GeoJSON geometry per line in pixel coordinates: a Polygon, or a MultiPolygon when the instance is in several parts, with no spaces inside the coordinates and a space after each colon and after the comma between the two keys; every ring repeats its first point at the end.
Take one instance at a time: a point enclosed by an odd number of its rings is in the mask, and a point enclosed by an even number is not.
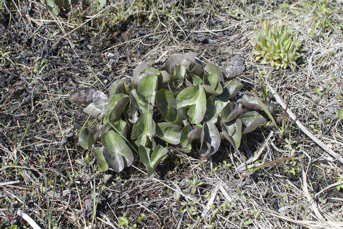
{"type": "Polygon", "coordinates": [[[142,145],[139,146],[139,154],[141,157],[141,161],[147,168],[147,176],[153,177],[154,176],[154,169],[156,166],[162,161],[165,155],[168,153],[168,150],[161,145],[157,145],[153,150],[150,156],[150,149],[143,147],[142,145]]]}

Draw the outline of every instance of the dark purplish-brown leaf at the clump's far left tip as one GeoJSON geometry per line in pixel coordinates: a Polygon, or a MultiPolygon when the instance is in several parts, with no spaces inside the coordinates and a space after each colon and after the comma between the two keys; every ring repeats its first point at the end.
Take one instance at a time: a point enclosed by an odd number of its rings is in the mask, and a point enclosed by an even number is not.
{"type": "Polygon", "coordinates": [[[107,102],[108,97],[103,92],[97,91],[93,88],[80,87],[70,93],[69,100],[89,105],[90,103],[96,101],[107,102]]]}

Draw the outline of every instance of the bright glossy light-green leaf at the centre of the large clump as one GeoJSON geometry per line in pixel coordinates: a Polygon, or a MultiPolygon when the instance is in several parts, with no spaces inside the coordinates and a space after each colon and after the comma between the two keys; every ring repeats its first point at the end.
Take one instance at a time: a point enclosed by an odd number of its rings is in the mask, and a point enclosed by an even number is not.
{"type": "Polygon", "coordinates": [[[182,90],[176,97],[177,109],[189,108],[187,114],[192,124],[198,124],[206,112],[206,96],[202,86],[189,87],[182,90]]]}

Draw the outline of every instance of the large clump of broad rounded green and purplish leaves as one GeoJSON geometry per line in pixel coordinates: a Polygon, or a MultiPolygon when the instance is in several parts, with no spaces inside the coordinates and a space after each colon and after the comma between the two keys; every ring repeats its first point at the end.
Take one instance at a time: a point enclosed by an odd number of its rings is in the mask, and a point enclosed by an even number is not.
{"type": "Polygon", "coordinates": [[[252,96],[235,100],[243,84],[233,78],[242,69],[198,62],[192,53],[172,54],[163,66],[142,62],[131,79],[111,84],[109,96],[85,87],[72,91],[69,99],[85,104],[83,111],[100,122],[82,130],[81,146],[101,142],[95,148],[99,166],[116,172],[132,164],[134,150],[149,177],[168,152],[162,145],[184,152],[200,148],[206,157],[220,146],[219,128],[237,149],[242,134],[265,122],[255,111],[261,107],[252,96]]]}

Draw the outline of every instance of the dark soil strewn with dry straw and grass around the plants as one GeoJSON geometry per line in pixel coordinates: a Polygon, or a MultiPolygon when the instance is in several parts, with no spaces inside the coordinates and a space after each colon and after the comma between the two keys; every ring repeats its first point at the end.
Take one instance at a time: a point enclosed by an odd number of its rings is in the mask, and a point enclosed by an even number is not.
{"type": "MultiPolygon", "coordinates": [[[[323,27],[320,20],[326,18],[315,11],[315,2],[287,2],[291,6],[282,10],[277,7],[282,1],[108,1],[105,9],[87,10],[85,1],[55,17],[44,1],[2,1],[1,228],[29,227],[22,213],[40,228],[91,228],[93,209],[93,228],[119,228],[119,217],[137,228],[342,227],[342,189],[335,188],[343,172],[337,116],[342,108],[337,97],[343,94],[342,7],[327,3],[327,18],[333,20],[323,27]],[[285,21],[300,35],[303,57],[296,72],[270,71],[251,54],[258,23],[253,15],[263,9],[265,18],[285,21]],[[314,21],[319,24],[312,32],[314,21]],[[246,70],[239,79],[248,91],[261,91],[258,73],[265,73],[262,83],[283,101],[288,95],[288,109],[337,155],[288,119],[282,139],[268,122],[244,135],[239,152],[223,140],[206,161],[169,148],[152,179],[139,159],[121,173],[99,172],[96,160],[93,167],[75,162],[86,153],[94,160],[94,151],[78,143],[87,116],[69,102],[71,90],[106,91],[115,79],[130,77],[141,61],[162,63],[171,53],[189,51],[219,66],[242,57],[246,70]],[[321,95],[318,86],[324,88],[321,95]],[[267,163],[290,149],[298,153],[291,160],[248,175],[239,170],[243,157],[260,151],[258,161],[267,163]],[[193,193],[189,183],[195,175],[204,184],[193,193]]],[[[269,98],[277,104],[274,96],[269,98]]],[[[281,106],[277,110],[275,116],[283,114],[281,106]]]]}

